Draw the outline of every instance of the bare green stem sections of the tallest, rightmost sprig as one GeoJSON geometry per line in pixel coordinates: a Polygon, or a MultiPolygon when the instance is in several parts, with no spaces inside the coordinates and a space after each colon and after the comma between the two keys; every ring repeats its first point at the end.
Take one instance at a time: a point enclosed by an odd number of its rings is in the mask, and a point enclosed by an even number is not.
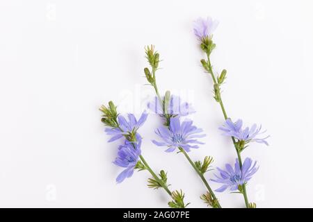
{"type": "MultiPolygon", "coordinates": [[[[207,53],[207,63],[208,63],[208,67],[209,67],[209,74],[211,74],[213,82],[214,82],[214,84],[216,84],[217,81],[216,81],[216,77],[214,76],[214,72],[213,72],[213,69],[212,69],[211,60],[210,60],[210,54],[209,53],[207,53]]],[[[220,95],[220,101],[218,103],[220,104],[220,108],[222,109],[224,118],[226,120],[228,117],[227,117],[227,113],[226,113],[226,110],[225,110],[225,107],[224,107],[221,95],[220,95]]],[[[232,143],[234,144],[234,148],[236,149],[237,157],[238,157],[238,160],[239,160],[239,167],[241,169],[242,168],[241,155],[240,155],[240,152],[238,151],[238,149],[236,148],[236,141],[235,141],[234,137],[232,137],[232,143]]],[[[248,201],[248,196],[247,196],[247,191],[246,191],[246,184],[243,184],[243,192],[242,192],[242,194],[243,194],[243,198],[245,199],[246,207],[248,208],[249,207],[249,201],[248,201]]]]}

